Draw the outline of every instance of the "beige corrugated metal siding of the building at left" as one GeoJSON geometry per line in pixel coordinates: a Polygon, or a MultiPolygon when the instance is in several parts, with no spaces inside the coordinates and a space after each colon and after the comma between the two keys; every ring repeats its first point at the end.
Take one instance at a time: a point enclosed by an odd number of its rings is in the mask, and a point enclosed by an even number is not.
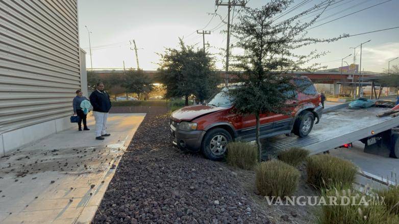
{"type": "Polygon", "coordinates": [[[77,7],[77,0],[0,1],[0,133],[71,115],[74,91],[86,81],[77,7]]]}

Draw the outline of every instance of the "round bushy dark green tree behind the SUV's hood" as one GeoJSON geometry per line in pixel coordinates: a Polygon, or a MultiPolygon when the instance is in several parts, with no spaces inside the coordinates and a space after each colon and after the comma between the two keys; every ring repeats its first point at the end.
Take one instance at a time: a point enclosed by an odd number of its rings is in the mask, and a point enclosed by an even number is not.
{"type": "Polygon", "coordinates": [[[208,53],[187,46],[180,39],[180,49],[166,48],[159,55],[159,79],[165,86],[166,98],[184,96],[187,106],[191,94],[203,102],[217,90],[220,80],[213,75],[214,60],[208,53]]]}

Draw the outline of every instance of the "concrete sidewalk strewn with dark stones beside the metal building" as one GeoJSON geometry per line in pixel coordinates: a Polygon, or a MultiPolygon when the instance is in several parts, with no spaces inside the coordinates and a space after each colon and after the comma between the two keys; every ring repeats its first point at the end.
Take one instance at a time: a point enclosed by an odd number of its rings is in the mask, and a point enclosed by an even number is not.
{"type": "Polygon", "coordinates": [[[0,158],[0,223],[88,223],[145,114],[111,114],[104,141],[66,130],[0,158]]]}

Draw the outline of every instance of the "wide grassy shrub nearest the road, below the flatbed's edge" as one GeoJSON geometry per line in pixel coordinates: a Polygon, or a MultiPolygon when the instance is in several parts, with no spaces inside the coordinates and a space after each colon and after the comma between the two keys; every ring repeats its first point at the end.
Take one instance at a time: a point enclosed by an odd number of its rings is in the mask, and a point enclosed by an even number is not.
{"type": "Polygon", "coordinates": [[[357,167],[350,161],[330,155],[314,155],[307,158],[308,183],[316,188],[352,186],[357,167]]]}

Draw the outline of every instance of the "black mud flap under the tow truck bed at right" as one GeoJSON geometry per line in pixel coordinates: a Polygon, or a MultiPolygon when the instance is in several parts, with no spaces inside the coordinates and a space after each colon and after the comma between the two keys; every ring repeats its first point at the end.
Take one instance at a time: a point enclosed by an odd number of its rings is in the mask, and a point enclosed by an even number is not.
{"type": "Polygon", "coordinates": [[[361,139],[361,142],[364,144],[364,152],[383,157],[389,157],[392,147],[391,135],[391,130],[388,130],[374,136],[361,139]]]}

